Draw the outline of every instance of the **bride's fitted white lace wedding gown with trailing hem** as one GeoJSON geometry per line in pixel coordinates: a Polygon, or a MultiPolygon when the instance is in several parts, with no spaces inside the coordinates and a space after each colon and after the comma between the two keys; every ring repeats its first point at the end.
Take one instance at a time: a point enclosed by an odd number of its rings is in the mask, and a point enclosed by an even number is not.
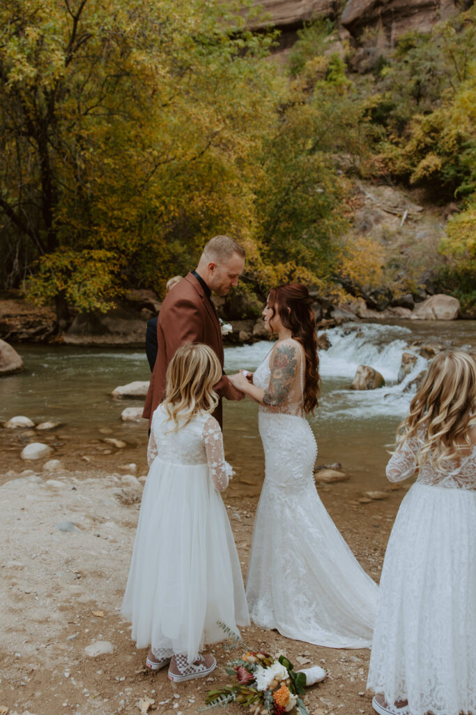
{"type": "MultiPolygon", "coordinates": [[[[315,488],[317,445],[303,413],[304,353],[277,408],[260,406],[265,480],[255,517],[246,596],[250,617],[283,636],[331,648],[367,648],[378,586],[360,567],[315,488]]],[[[270,351],[253,384],[267,390],[270,351]]]]}

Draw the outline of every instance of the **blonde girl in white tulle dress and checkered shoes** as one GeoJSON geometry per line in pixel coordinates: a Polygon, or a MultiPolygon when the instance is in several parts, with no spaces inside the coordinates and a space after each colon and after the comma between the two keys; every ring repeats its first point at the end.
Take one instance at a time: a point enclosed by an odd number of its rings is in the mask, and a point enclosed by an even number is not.
{"type": "Polygon", "coordinates": [[[167,371],[166,396],[153,414],[150,466],[138,518],[122,613],[146,666],[170,663],[174,682],[201,678],[216,660],[204,644],[248,625],[240,563],[219,492],[228,485],[223,437],[211,413],[221,378],[206,345],[180,347],[167,371]]]}

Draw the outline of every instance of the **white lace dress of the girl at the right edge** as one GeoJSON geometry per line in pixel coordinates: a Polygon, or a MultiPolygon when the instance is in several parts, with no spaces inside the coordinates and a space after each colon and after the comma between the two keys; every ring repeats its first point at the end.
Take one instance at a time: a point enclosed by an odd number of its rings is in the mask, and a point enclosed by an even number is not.
{"type": "MultiPolygon", "coordinates": [[[[390,481],[415,473],[417,451],[410,439],[392,456],[390,481]]],[[[475,551],[476,447],[445,473],[420,469],[390,534],[368,674],[390,706],[476,714],[475,551]]]]}

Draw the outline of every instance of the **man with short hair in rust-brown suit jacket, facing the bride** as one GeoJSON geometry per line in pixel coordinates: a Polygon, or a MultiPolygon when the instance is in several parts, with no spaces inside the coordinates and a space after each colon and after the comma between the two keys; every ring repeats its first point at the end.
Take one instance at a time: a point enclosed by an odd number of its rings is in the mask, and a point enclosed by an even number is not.
{"type": "MultiPolygon", "coordinates": [[[[191,271],[169,292],[157,321],[158,358],[153,368],[143,417],[149,425],[166,389],[168,363],[184,342],[203,342],[215,350],[223,370],[223,341],[212,291],[226,295],[238,285],[245,266],[245,251],[233,238],[216,236],[208,241],[196,270],[191,271]]],[[[242,400],[243,393],[233,387],[226,375],[215,387],[220,398],[242,400]]],[[[223,425],[221,400],[213,416],[223,425]]]]}

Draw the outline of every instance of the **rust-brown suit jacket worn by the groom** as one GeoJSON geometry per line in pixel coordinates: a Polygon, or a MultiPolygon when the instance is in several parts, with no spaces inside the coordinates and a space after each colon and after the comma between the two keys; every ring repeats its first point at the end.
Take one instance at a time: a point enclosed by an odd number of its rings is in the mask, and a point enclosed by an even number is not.
{"type": "MultiPolygon", "coordinates": [[[[218,315],[200,282],[192,273],[188,273],[166,295],[158,315],[157,360],[142,415],[148,418],[149,424],[154,410],[160,405],[165,394],[168,363],[178,347],[188,341],[203,342],[215,350],[223,368],[223,340],[218,315]]],[[[220,398],[227,397],[228,394],[231,395],[232,390],[230,381],[226,375],[223,375],[216,385],[218,395],[220,398]]],[[[221,400],[213,416],[222,426],[221,400]]]]}

